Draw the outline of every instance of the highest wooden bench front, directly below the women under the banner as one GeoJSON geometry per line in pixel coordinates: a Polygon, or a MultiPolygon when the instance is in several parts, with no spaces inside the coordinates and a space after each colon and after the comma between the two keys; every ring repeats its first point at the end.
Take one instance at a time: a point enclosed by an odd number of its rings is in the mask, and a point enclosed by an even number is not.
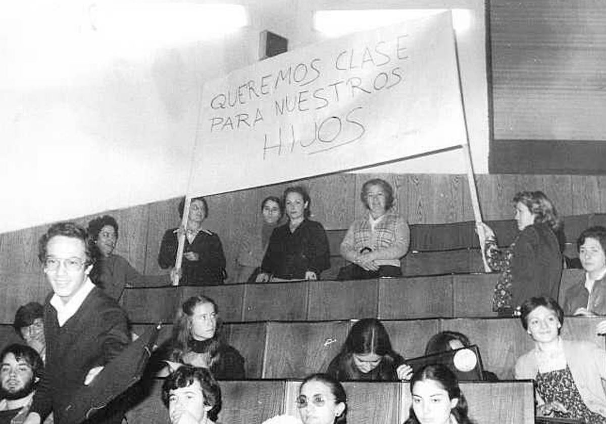
{"type": "MultiPolygon", "coordinates": [[[[581,270],[566,270],[561,293],[581,276],[581,270]]],[[[128,288],[122,306],[136,323],[170,322],[181,302],[198,294],[215,299],[224,322],[491,317],[496,279],[493,273],[128,288]]]]}

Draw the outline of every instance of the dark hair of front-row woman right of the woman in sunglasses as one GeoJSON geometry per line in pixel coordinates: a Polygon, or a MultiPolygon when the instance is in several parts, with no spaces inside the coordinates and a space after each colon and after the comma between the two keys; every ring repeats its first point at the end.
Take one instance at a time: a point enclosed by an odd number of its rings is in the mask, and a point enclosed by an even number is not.
{"type": "MultiPolygon", "coordinates": [[[[465,395],[461,391],[461,388],[459,388],[459,380],[450,368],[441,363],[433,363],[417,369],[410,379],[410,393],[413,393],[413,389],[417,382],[424,380],[432,380],[438,383],[439,386],[447,391],[448,399],[459,399],[450,413],[453,414],[454,418],[456,418],[456,422],[459,424],[471,423],[467,416],[467,399],[465,399],[465,395]]],[[[416,423],[419,423],[419,419],[415,414],[413,406],[410,406],[410,418],[406,421],[406,424],[416,423]]]]}

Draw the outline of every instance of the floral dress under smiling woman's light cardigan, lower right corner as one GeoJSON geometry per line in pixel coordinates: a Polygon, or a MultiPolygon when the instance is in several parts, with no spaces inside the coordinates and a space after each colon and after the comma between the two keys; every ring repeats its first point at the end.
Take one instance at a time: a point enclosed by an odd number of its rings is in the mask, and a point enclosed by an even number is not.
{"type": "Polygon", "coordinates": [[[553,411],[557,418],[582,418],[587,424],[604,424],[606,417],[591,412],[579,394],[568,365],[548,373],[537,373],[536,390],[545,402],[557,400],[568,412],[553,411]]]}

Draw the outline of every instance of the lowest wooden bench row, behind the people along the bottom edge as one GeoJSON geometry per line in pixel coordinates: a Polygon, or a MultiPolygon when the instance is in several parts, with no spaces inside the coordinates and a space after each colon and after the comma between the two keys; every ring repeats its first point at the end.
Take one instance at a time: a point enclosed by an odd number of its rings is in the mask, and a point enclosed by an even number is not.
{"type": "MultiPolygon", "coordinates": [[[[164,424],[167,409],[160,400],[162,380],[155,380],[150,396],[127,412],[128,422],[164,424]]],[[[219,421],[260,424],[273,416],[298,416],[295,405],[301,382],[247,380],[220,382],[223,407],[219,421]]],[[[411,397],[408,383],[344,383],[348,398],[347,421],[356,424],[401,424],[408,418],[411,397]]],[[[530,381],[461,383],[478,423],[534,423],[533,385],[530,381]]]]}

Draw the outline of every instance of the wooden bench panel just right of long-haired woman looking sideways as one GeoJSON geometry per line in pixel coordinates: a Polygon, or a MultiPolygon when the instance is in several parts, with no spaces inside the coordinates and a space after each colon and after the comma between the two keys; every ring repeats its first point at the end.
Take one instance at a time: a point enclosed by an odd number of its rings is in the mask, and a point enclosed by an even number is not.
{"type": "Polygon", "coordinates": [[[267,348],[267,324],[264,322],[225,324],[222,332],[227,342],[238,349],[244,357],[246,378],[260,379],[267,348]]]}

